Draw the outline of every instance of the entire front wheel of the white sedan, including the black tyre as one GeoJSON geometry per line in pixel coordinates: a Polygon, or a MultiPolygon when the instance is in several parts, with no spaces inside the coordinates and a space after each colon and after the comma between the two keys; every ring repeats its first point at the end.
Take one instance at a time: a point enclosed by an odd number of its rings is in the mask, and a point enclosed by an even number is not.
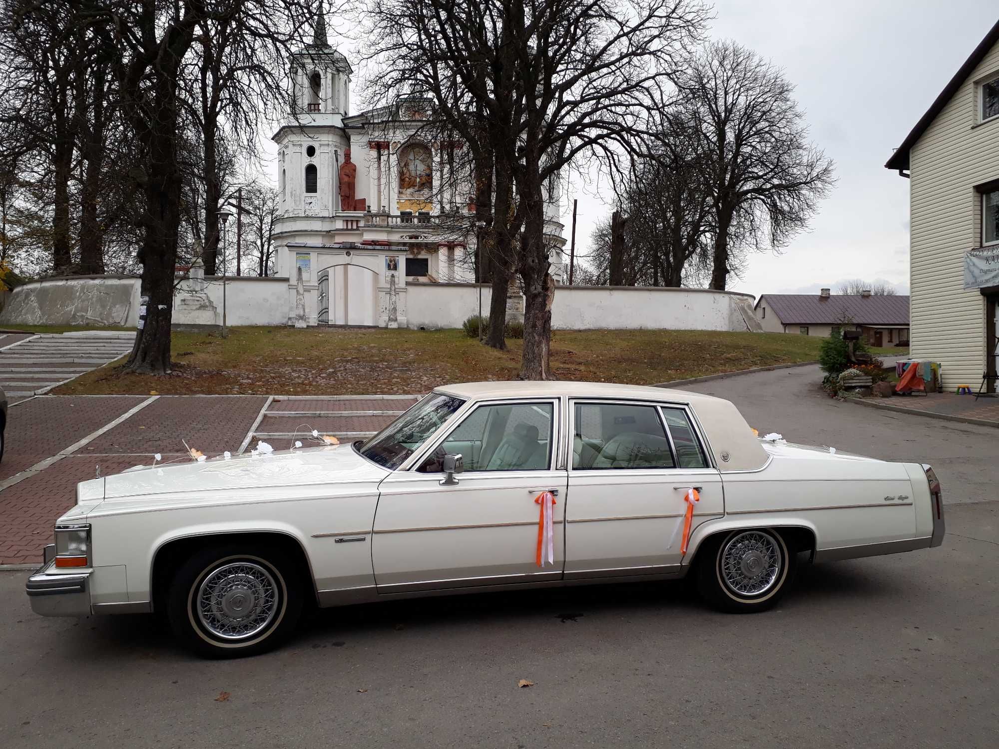
{"type": "Polygon", "coordinates": [[[298,623],[303,585],[276,548],[205,548],[177,571],[167,615],[189,649],[210,658],[257,655],[279,645],[298,623]]]}

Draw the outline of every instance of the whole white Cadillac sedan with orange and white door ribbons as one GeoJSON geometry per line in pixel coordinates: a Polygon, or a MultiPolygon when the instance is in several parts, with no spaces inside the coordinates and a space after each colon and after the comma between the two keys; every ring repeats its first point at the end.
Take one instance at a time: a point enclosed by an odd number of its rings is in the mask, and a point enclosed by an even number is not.
{"type": "Polygon", "coordinates": [[[304,607],[693,575],[760,611],[815,561],[939,546],[928,465],[757,438],[732,403],[589,382],[440,387],[365,442],[83,481],[28,580],[44,615],[164,612],[249,655],[304,607]]]}

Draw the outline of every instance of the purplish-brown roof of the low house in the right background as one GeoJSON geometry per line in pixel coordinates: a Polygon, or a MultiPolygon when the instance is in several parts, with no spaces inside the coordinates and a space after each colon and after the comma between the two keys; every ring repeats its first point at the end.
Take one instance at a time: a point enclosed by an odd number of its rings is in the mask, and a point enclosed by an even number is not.
{"type": "Polygon", "coordinates": [[[852,321],[865,326],[909,325],[909,298],[860,295],[764,294],[766,304],[784,325],[835,325],[852,321]]]}

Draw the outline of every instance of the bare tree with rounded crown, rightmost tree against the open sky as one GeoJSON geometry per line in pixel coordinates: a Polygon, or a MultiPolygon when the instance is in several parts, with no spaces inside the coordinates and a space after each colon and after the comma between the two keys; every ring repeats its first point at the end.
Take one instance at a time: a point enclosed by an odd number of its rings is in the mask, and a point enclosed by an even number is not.
{"type": "Polygon", "coordinates": [[[793,86],[755,52],[708,44],[680,79],[710,176],[711,289],[725,289],[747,250],[779,250],[804,230],[834,184],[831,160],[807,142],[793,86]]]}

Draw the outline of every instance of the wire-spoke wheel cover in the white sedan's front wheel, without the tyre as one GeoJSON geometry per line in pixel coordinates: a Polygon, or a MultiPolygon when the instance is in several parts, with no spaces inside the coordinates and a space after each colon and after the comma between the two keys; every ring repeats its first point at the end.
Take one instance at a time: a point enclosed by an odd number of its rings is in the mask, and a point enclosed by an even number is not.
{"type": "Polygon", "coordinates": [[[265,629],[278,611],[278,583],[260,564],[222,564],[205,575],[194,598],[205,629],[225,640],[252,637],[265,629]]]}

